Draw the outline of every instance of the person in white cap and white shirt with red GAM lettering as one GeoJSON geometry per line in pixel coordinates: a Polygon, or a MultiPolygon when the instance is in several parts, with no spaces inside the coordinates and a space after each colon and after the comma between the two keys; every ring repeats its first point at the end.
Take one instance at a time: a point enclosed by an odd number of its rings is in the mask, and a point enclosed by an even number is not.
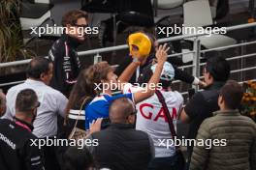
{"type": "MultiPolygon", "coordinates": [[[[138,79],[140,85],[148,82],[148,78],[154,72],[156,65],[149,65],[144,69],[138,79]]],[[[170,63],[165,62],[159,81],[161,84],[155,88],[164,97],[173,124],[176,127],[176,120],[183,104],[183,98],[180,93],[171,89],[174,77],[174,67],[170,63]]],[[[124,93],[134,93],[140,89],[141,87],[126,84],[124,93]]],[[[138,110],[136,129],[143,130],[149,134],[153,139],[155,147],[155,158],[150,162],[148,169],[176,169],[176,147],[167,147],[168,139],[173,139],[173,136],[169,128],[168,118],[157,95],[154,94],[149,99],[137,103],[136,107],[138,110]]]]}

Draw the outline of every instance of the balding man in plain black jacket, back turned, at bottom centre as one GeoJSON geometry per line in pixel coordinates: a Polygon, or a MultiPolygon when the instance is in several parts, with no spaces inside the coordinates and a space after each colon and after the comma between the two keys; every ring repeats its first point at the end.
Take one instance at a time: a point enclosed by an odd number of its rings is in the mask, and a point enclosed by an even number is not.
{"type": "Polygon", "coordinates": [[[89,138],[99,145],[89,150],[99,168],[112,170],[146,169],[154,157],[154,147],[149,136],[134,128],[137,110],[132,100],[115,99],[110,106],[111,125],[89,138]]]}

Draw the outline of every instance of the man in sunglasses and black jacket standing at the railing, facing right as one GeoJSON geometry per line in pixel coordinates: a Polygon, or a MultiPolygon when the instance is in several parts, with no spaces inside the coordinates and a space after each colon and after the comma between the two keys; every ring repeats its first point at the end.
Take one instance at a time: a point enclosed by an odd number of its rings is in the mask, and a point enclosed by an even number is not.
{"type": "Polygon", "coordinates": [[[48,57],[53,62],[50,86],[69,96],[80,72],[77,48],[85,40],[88,15],[80,10],[70,11],[62,17],[63,34],[51,46],[48,57]]]}

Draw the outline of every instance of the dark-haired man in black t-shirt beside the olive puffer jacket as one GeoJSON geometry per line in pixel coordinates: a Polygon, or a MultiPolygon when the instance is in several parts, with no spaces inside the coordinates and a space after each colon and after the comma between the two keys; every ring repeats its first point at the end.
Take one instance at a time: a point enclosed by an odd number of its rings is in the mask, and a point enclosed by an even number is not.
{"type": "MultiPolygon", "coordinates": [[[[223,57],[208,57],[203,75],[207,86],[204,91],[196,93],[186,104],[180,114],[180,120],[189,124],[188,139],[196,139],[198,129],[212,112],[219,109],[219,90],[230,76],[230,65],[223,57]]],[[[193,145],[187,146],[188,165],[193,152],[193,145]]]]}

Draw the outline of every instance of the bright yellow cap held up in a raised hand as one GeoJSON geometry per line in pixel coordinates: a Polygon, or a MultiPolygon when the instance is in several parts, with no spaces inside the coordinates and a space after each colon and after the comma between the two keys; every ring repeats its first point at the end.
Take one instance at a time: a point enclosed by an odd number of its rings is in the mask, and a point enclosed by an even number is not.
{"type": "Polygon", "coordinates": [[[152,46],[150,39],[144,33],[131,34],[128,37],[128,45],[133,57],[147,57],[152,46]],[[139,50],[134,50],[133,45],[137,46],[139,50]]]}

